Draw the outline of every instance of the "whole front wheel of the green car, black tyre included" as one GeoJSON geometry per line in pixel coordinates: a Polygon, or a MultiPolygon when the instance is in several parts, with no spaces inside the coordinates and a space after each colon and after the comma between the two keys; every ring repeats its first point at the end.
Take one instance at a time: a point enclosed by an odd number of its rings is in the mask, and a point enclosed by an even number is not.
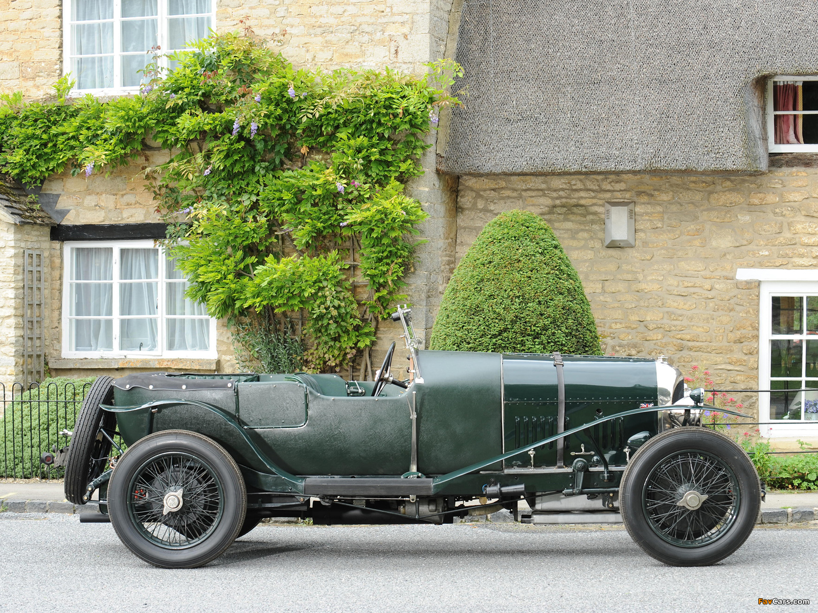
{"type": "Polygon", "coordinates": [[[678,427],[640,447],[622,475],[619,501],[628,533],[649,556],[669,566],[709,566],[753,531],[761,486],[748,455],[728,436],[678,427]],[[688,492],[694,494],[683,499],[688,492]]]}

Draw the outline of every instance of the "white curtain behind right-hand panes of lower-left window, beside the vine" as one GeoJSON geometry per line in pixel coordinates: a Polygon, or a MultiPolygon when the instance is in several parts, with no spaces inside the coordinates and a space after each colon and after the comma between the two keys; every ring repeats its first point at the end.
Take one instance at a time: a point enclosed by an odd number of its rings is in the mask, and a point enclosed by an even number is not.
{"type": "Polygon", "coordinates": [[[176,268],[176,262],[168,259],[165,269],[165,302],[167,320],[167,344],[169,351],[207,351],[210,348],[210,320],[201,302],[185,297],[188,283],[176,268]],[[188,317],[179,317],[188,315],[188,317]],[[201,319],[192,319],[190,316],[201,319]]]}

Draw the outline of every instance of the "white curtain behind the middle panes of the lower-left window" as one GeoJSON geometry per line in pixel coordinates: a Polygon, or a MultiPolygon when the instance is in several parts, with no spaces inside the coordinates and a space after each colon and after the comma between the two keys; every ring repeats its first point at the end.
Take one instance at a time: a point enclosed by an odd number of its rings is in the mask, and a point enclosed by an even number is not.
{"type": "Polygon", "coordinates": [[[159,249],[120,249],[119,315],[152,315],[119,321],[121,351],[156,351],[159,345],[158,288],[159,249]]]}

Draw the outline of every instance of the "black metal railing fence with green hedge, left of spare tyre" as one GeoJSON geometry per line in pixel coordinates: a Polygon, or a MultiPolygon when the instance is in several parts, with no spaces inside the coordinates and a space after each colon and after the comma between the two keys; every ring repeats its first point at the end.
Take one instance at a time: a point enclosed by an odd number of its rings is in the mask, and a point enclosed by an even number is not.
{"type": "Polygon", "coordinates": [[[46,451],[59,452],[70,442],[66,431],[74,429],[79,409],[91,383],[49,382],[5,386],[2,392],[0,477],[54,479],[63,468],[43,465],[46,451]]]}

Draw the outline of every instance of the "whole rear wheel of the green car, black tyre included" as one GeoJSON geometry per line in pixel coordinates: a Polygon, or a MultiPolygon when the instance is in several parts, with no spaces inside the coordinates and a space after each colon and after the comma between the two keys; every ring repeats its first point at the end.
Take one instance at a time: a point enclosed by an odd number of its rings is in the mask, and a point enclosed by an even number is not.
{"type": "Polygon", "coordinates": [[[220,556],[244,526],[247,489],[236,461],[207,436],[156,432],[128,447],[108,486],[110,521],[145,562],[196,568],[220,556]],[[182,507],[166,512],[168,494],[182,507]],[[186,494],[186,492],[194,492],[186,494]]]}

